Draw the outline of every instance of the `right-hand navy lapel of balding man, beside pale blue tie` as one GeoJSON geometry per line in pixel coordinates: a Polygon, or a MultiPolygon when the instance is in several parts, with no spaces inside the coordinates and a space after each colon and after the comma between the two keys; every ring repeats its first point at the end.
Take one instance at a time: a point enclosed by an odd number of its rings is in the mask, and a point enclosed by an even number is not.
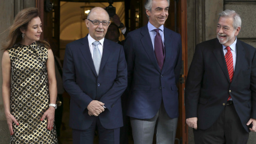
{"type": "Polygon", "coordinates": [[[103,67],[106,65],[106,62],[108,61],[108,57],[110,53],[111,53],[110,45],[108,40],[105,38],[104,44],[103,44],[103,52],[102,52],[99,74],[100,74],[100,71],[103,69],[103,67]]]}

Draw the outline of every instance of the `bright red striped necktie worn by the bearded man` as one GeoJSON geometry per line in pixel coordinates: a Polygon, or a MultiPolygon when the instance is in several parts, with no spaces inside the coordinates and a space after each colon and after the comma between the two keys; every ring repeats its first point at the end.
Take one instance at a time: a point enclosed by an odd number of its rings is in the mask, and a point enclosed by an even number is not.
{"type": "MultiPolygon", "coordinates": [[[[226,49],[228,52],[225,54],[225,59],[226,59],[226,63],[227,63],[227,67],[228,67],[228,75],[229,75],[229,79],[230,79],[230,83],[231,83],[232,79],[233,79],[233,75],[234,75],[233,56],[230,51],[230,47],[227,46],[226,49]]],[[[229,99],[231,99],[230,95],[228,97],[228,100],[229,99]]]]}

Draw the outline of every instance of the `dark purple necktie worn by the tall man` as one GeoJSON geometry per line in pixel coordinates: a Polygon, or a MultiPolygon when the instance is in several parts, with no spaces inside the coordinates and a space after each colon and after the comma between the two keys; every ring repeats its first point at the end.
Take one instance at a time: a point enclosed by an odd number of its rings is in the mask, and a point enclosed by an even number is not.
{"type": "Polygon", "coordinates": [[[156,36],[155,36],[155,43],[154,43],[154,50],[155,50],[155,55],[156,55],[156,60],[158,63],[159,68],[162,70],[163,65],[164,65],[164,45],[162,42],[162,37],[159,34],[159,29],[154,29],[156,31],[156,36]]]}

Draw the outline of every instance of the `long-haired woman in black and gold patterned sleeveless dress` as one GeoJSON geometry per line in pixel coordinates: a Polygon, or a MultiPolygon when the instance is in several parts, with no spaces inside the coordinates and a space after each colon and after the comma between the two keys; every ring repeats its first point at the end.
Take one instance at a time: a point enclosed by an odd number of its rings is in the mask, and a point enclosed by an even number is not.
{"type": "Polygon", "coordinates": [[[10,143],[58,143],[54,57],[50,45],[39,40],[38,16],[33,7],[20,11],[4,45],[2,97],[10,143]]]}

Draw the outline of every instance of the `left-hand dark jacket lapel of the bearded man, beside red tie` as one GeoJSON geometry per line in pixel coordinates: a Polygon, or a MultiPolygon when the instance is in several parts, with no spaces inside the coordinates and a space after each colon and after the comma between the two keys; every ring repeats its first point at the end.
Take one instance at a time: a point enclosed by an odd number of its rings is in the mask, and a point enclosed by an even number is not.
{"type": "Polygon", "coordinates": [[[215,45],[213,47],[213,53],[215,55],[215,58],[217,59],[224,75],[226,76],[228,82],[230,83],[229,75],[228,75],[228,68],[227,63],[225,60],[225,56],[223,54],[222,45],[219,43],[218,39],[216,38],[215,45]]]}

